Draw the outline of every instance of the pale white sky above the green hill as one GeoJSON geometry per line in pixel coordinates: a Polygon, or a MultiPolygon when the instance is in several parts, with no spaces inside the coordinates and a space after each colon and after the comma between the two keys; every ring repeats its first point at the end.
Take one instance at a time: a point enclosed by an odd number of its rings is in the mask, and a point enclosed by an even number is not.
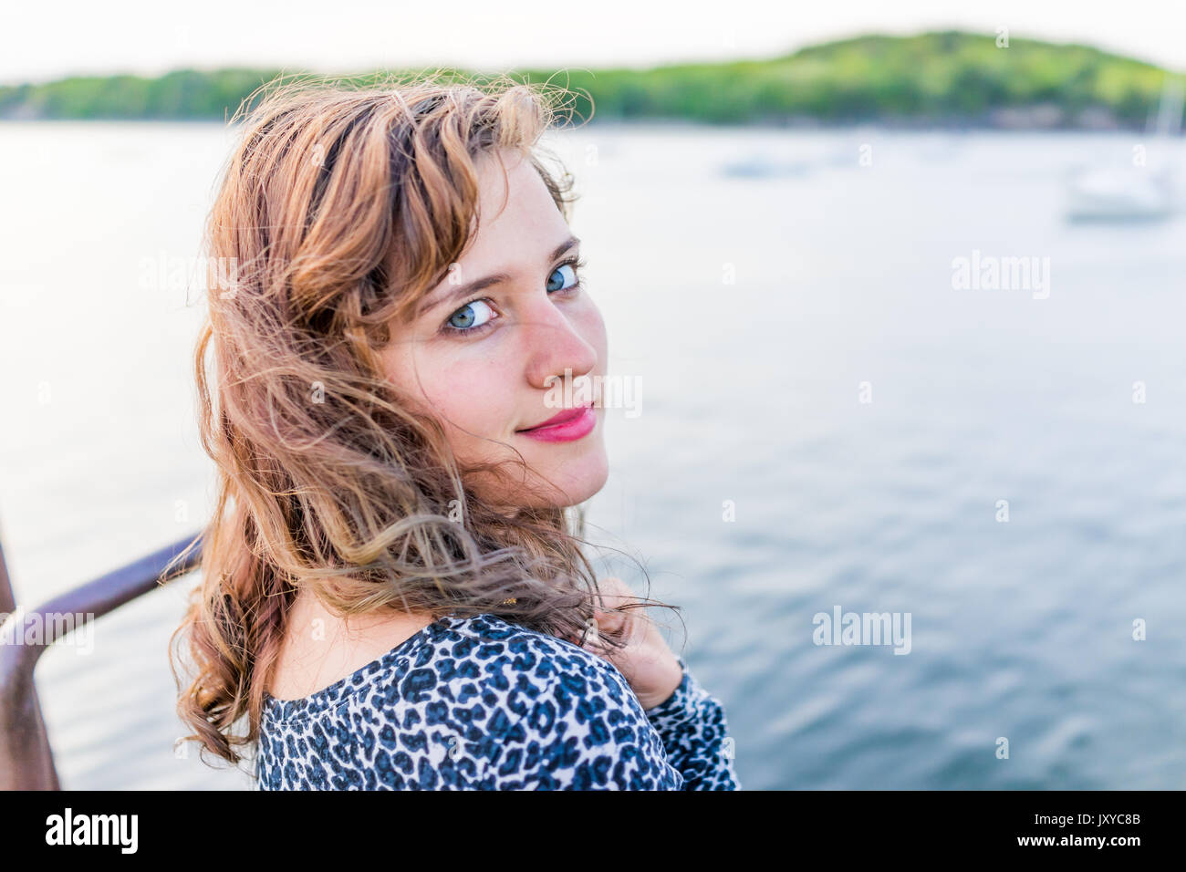
{"type": "Polygon", "coordinates": [[[645,68],[764,58],[860,33],[958,28],[1086,43],[1186,71],[1181,0],[2,0],[0,83],[181,66],[361,72],[645,68]]]}

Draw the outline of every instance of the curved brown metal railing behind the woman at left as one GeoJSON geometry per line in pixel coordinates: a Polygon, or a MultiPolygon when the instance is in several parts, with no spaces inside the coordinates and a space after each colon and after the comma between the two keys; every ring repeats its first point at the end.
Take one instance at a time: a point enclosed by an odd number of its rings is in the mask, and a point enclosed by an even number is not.
{"type": "Polygon", "coordinates": [[[94,581],[53,597],[32,610],[18,610],[4,548],[0,546],[0,790],[60,790],[53,751],[42,719],[42,706],[33,683],[33,669],[45,649],[53,644],[60,615],[93,615],[98,619],[174,578],[197,568],[202,560],[202,535],[193,534],[139,560],[109,572],[94,581]],[[30,620],[44,628],[39,638],[21,644],[5,644],[8,624],[30,620]]]}

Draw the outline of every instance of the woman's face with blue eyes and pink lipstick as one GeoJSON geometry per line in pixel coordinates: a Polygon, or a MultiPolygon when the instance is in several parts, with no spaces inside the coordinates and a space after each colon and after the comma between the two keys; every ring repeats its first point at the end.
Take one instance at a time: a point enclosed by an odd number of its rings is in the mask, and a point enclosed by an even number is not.
{"type": "Polygon", "coordinates": [[[503,159],[505,180],[496,159],[479,159],[477,237],[381,357],[387,376],[440,419],[463,465],[522,456],[525,480],[518,471],[514,485],[479,477],[480,496],[511,510],[574,505],[608,475],[605,324],[578,286],[579,247],[543,179],[517,152],[503,159]],[[591,405],[575,421],[530,431],[591,405]]]}

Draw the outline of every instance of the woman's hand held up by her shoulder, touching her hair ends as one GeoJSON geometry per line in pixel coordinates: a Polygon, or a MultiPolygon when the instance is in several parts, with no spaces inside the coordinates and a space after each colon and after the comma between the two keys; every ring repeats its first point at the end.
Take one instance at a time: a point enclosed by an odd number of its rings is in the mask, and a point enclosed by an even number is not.
{"type": "MultiPolygon", "coordinates": [[[[624,604],[639,602],[621,579],[602,579],[598,587],[605,609],[594,606],[593,620],[597,623],[586,631],[581,647],[618,668],[643,709],[665,702],[683,681],[678,660],[659,634],[659,628],[642,607],[617,611],[624,604]],[[621,626],[625,626],[625,648],[613,649],[598,642],[599,634],[617,632],[621,626]]],[[[579,635],[569,641],[581,644],[579,635]]]]}

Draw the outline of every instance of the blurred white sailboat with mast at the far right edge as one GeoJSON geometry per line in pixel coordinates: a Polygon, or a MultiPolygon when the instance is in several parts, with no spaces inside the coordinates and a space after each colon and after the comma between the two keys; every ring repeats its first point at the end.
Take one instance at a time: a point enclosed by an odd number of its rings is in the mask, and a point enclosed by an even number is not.
{"type": "Polygon", "coordinates": [[[1149,131],[1156,148],[1149,163],[1128,168],[1107,167],[1076,174],[1067,190],[1070,221],[1147,221],[1175,211],[1174,176],[1165,153],[1172,138],[1181,133],[1186,83],[1166,74],[1156,127],[1149,131]]]}

